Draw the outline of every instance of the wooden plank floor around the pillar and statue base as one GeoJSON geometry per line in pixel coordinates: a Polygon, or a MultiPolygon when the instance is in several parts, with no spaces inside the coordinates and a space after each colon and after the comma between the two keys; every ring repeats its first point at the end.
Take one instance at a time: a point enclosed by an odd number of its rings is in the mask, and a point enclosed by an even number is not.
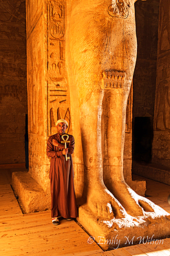
{"type": "MultiPolygon", "coordinates": [[[[138,177],[140,179],[140,177],[138,177]]],[[[11,171],[0,170],[1,256],[170,256],[170,238],[103,252],[75,221],[53,226],[50,211],[22,214],[10,186],[11,171]]],[[[147,197],[170,213],[170,186],[147,179],[147,197]]]]}

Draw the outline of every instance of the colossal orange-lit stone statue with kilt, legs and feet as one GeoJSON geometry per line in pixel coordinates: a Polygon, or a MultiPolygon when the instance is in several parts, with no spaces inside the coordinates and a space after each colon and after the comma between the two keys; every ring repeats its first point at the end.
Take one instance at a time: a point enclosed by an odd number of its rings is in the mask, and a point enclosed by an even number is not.
{"type": "Polygon", "coordinates": [[[98,229],[95,223],[118,225],[116,219],[128,218],[138,223],[134,217],[161,212],[131,190],[123,177],[126,106],[137,48],[134,2],[68,3],[66,57],[72,122],[76,141],[82,141],[85,165],[86,201],[79,220],[91,235],[98,229]]]}

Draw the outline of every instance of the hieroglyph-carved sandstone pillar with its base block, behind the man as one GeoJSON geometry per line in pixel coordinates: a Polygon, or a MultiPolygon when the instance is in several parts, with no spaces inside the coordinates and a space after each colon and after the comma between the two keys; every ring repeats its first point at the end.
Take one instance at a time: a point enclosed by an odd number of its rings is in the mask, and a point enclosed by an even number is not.
{"type": "Polygon", "coordinates": [[[12,185],[26,212],[50,208],[48,136],[65,118],[70,130],[70,97],[65,70],[65,1],[26,1],[29,172],[15,173],[12,185]]]}

